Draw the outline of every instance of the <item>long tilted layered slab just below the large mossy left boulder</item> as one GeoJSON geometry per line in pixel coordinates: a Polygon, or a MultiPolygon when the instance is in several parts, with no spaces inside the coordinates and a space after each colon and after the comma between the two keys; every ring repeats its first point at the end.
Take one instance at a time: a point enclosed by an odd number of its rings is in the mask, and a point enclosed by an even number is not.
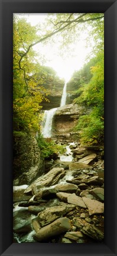
{"type": "Polygon", "coordinates": [[[35,180],[34,183],[26,188],[24,193],[29,193],[34,186],[38,189],[38,186],[40,188],[41,186],[50,187],[50,185],[55,185],[65,174],[64,168],[53,168],[51,171],[47,172],[47,174],[35,180]]]}

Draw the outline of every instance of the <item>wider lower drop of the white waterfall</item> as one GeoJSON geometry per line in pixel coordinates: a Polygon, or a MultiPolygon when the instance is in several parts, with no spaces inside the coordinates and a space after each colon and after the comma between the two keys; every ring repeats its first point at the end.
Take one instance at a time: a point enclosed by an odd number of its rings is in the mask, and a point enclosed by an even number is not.
{"type": "Polygon", "coordinates": [[[45,110],[44,112],[44,127],[42,130],[42,134],[44,137],[51,137],[51,129],[53,123],[53,116],[56,112],[57,108],[51,108],[51,110],[45,110]]]}

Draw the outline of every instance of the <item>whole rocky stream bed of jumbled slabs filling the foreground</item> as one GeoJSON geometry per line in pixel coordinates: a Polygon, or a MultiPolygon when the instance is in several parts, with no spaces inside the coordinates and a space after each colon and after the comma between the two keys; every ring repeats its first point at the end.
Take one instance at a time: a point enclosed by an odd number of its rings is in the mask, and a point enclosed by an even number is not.
{"type": "Polygon", "coordinates": [[[47,162],[44,175],[14,186],[14,242],[103,242],[103,160],[77,145],[71,152],[72,162],[47,162]]]}

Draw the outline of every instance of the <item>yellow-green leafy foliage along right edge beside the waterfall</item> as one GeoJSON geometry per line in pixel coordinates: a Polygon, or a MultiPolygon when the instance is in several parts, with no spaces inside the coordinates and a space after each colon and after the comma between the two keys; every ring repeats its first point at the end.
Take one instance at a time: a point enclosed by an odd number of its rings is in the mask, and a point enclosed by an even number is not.
{"type": "Polygon", "coordinates": [[[95,66],[90,67],[92,77],[89,83],[79,89],[80,96],[75,103],[90,108],[90,114],[81,116],[75,130],[79,131],[82,144],[103,143],[104,136],[104,68],[103,53],[95,58],[95,66]]]}

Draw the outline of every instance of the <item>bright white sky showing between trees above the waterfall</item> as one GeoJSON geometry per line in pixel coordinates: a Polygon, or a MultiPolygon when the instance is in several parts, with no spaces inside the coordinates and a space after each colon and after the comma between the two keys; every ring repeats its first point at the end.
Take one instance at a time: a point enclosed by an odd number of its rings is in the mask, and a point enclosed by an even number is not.
{"type": "MultiPolygon", "coordinates": [[[[31,23],[31,25],[37,25],[38,23],[44,23],[45,17],[47,14],[15,14],[21,15],[27,18],[27,21],[31,23]]],[[[59,40],[56,44],[51,46],[48,44],[43,45],[41,43],[34,46],[34,50],[37,52],[37,59],[40,62],[40,52],[41,55],[45,56],[45,61],[43,65],[51,66],[60,78],[64,78],[65,81],[69,81],[71,75],[74,71],[79,70],[82,68],[83,64],[85,63],[85,58],[87,54],[90,52],[90,47],[86,47],[86,31],[82,31],[80,39],[77,39],[77,43],[71,45],[71,51],[67,51],[66,49],[66,58],[58,55],[58,46],[59,40]],[[70,55],[70,52],[72,55],[70,55]]]]}

